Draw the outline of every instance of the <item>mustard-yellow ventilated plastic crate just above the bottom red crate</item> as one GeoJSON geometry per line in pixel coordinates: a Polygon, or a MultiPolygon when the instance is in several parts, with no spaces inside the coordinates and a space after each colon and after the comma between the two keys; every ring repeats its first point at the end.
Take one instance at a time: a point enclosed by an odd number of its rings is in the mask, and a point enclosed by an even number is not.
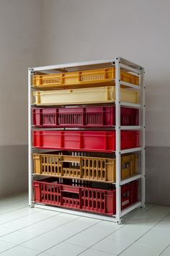
{"type": "MultiPolygon", "coordinates": [[[[34,173],[67,179],[84,179],[95,182],[115,182],[115,158],[97,158],[75,155],[33,154],[34,173]]],[[[121,158],[121,178],[138,173],[138,154],[121,158]]]]}

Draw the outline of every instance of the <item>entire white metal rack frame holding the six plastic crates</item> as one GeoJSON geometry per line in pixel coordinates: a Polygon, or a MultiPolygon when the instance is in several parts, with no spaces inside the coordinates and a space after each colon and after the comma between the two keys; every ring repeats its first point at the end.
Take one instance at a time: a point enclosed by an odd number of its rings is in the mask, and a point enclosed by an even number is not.
{"type": "Polygon", "coordinates": [[[105,59],[105,60],[99,60],[99,61],[86,61],[86,62],[80,62],[80,63],[71,63],[71,64],[58,64],[53,66],[47,66],[47,67],[33,67],[28,69],[28,169],[29,169],[29,205],[30,207],[36,207],[36,208],[45,208],[49,210],[55,210],[58,212],[64,212],[64,213],[72,213],[79,216],[86,216],[89,218],[99,218],[102,220],[107,221],[115,221],[117,223],[122,222],[122,216],[129,213],[131,210],[134,210],[135,208],[143,207],[145,208],[145,201],[146,201],[146,192],[145,192],[145,85],[144,85],[144,69],[143,67],[139,66],[138,64],[134,64],[131,61],[128,61],[126,59],[122,59],[120,57],[117,57],[115,59],[105,59]],[[32,148],[32,74],[38,73],[49,73],[49,72],[69,72],[69,71],[76,71],[76,70],[84,70],[84,69],[97,69],[97,68],[104,68],[104,67],[112,67],[115,66],[115,108],[116,108],[116,125],[115,125],[115,131],[116,131],[116,214],[114,216],[101,216],[93,213],[84,213],[76,210],[67,210],[63,208],[56,208],[49,205],[43,205],[43,204],[37,204],[33,202],[33,188],[32,188],[32,180],[33,180],[33,170],[32,170],[32,152],[34,148],[32,148]],[[123,82],[120,80],[120,69],[127,70],[129,72],[133,72],[138,75],[140,80],[140,85],[133,85],[128,82],[123,82]],[[120,101],[120,88],[121,85],[126,85],[132,90],[138,90],[138,93],[140,95],[140,103],[134,104],[134,103],[125,103],[120,101]],[[139,108],[140,109],[140,124],[136,127],[122,127],[120,126],[120,107],[126,106],[126,107],[132,107],[132,108],[139,108]],[[141,145],[139,148],[131,148],[128,150],[121,150],[120,149],[120,131],[122,129],[139,129],[140,130],[140,142],[141,145]],[[121,154],[124,153],[131,153],[135,151],[141,152],[141,174],[132,176],[128,179],[121,180],[121,172],[120,172],[120,166],[121,166],[121,154]],[[130,205],[129,208],[125,210],[121,210],[121,186],[123,184],[126,184],[128,182],[131,182],[136,179],[141,179],[141,201],[136,202],[134,205],[130,205]]]}

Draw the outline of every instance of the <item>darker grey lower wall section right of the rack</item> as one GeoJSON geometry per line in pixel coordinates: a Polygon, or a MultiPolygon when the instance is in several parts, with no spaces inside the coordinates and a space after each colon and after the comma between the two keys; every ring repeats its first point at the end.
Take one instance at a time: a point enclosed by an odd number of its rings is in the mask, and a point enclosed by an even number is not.
{"type": "Polygon", "coordinates": [[[169,147],[146,147],[146,202],[170,205],[169,147]]]}

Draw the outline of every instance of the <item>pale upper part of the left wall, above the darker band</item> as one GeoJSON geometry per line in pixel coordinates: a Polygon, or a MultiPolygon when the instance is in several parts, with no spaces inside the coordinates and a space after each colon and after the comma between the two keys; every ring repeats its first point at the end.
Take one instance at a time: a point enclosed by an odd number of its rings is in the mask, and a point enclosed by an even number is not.
{"type": "Polygon", "coordinates": [[[40,0],[0,0],[0,145],[27,144],[27,68],[38,64],[40,0]]]}

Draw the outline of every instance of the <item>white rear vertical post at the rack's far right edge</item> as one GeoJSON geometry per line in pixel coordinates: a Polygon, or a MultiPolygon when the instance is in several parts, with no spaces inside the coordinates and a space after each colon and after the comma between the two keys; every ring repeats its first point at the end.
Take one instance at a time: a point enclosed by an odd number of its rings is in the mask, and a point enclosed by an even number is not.
{"type": "Polygon", "coordinates": [[[141,69],[140,72],[140,103],[141,103],[141,202],[142,207],[145,208],[146,203],[146,144],[145,144],[145,129],[146,129],[146,122],[145,122],[145,82],[144,82],[144,70],[141,69]]]}

